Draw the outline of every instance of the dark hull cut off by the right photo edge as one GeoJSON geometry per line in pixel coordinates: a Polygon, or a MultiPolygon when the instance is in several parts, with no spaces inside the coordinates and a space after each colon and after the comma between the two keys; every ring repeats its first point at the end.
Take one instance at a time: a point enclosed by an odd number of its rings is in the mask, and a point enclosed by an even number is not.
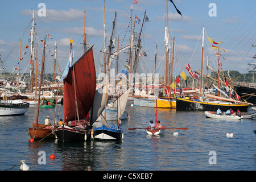
{"type": "Polygon", "coordinates": [[[234,86],[237,94],[242,97],[243,100],[250,102],[251,104],[256,104],[256,88],[250,88],[246,86],[234,86]]]}

